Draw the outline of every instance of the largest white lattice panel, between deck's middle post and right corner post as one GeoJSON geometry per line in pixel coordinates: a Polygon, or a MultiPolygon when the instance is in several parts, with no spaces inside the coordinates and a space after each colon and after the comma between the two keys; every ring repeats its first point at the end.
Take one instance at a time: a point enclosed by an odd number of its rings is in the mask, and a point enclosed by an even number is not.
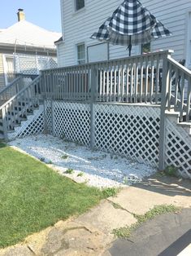
{"type": "Polygon", "coordinates": [[[158,166],[159,108],[97,104],[95,146],[158,166]]]}

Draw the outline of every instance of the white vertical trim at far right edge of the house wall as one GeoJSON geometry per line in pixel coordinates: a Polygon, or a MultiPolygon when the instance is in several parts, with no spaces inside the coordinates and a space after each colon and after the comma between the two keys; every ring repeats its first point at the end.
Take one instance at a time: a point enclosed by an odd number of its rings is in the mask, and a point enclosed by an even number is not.
{"type": "Polygon", "coordinates": [[[186,60],[185,66],[189,69],[191,69],[191,24],[189,24],[190,21],[190,15],[191,15],[191,9],[189,11],[186,11],[186,17],[185,17],[185,48],[184,51],[184,59],[186,60]],[[189,56],[189,60],[188,60],[189,56]]]}

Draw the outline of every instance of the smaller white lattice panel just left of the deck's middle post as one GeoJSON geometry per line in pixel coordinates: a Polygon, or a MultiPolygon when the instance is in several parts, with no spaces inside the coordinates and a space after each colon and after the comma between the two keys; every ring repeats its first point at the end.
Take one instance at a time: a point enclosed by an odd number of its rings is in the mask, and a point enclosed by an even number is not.
{"type": "Polygon", "coordinates": [[[54,135],[89,145],[89,104],[54,102],[54,135]]]}

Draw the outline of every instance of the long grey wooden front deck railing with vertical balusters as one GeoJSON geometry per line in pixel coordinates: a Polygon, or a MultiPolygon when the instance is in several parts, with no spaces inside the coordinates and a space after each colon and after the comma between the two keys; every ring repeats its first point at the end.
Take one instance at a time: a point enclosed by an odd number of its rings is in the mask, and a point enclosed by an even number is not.
{"type": "Polygon", "coordinates": [[[42,71],[46,98],[97,102],[161,101],[163,60],[169,51],[42,71]],[[93,93],[92,93],[93,92],[93,93]]]}

